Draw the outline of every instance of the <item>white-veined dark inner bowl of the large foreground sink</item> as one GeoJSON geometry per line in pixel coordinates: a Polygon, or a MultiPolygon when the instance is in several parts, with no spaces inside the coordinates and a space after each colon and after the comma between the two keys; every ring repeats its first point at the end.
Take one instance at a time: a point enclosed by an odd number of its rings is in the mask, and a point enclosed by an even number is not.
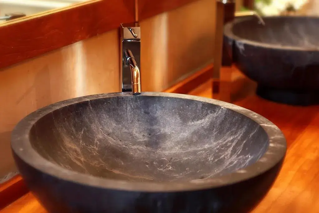
{"type": "Polygon", "coordinates": [[[68,170],[130,181],[190,181],[256,162],[269,138],[218,105],[162,96],[115,96],[64,106],[34,123],[30,141],[68,170]]]}

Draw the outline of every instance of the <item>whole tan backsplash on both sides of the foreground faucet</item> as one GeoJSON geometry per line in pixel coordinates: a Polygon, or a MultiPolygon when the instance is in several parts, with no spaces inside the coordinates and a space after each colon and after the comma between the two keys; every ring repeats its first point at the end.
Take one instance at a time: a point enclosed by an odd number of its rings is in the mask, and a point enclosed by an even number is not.
{"type": "MultiPolygon", "coordinates": [[[[162,91],[213,59],[215,1],[143,20],[142,91],[162,91]]],[[[119,92],[117,30],[0,70],[0,182],[15,172],[10,133],[27,114],[78,96],[119,92]]]]}

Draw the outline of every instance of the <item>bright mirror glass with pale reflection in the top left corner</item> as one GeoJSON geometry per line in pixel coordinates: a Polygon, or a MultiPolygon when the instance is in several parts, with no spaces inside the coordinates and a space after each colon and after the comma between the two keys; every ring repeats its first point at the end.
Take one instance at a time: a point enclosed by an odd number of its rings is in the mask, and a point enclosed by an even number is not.
{"type": "Polygon", "coordinates": [[[0,23],[89,0],[0,0],[0,23]]]}

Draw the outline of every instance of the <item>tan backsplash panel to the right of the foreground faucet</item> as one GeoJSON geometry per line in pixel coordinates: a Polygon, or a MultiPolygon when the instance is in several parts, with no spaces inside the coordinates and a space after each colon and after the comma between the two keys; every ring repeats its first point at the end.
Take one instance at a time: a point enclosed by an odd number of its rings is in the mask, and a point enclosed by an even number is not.
{"type": "Polygon", "coordinates": [[[198,0],[141,21],[142,90],[163,91],[213,60],[215,5],[198,0]]]}

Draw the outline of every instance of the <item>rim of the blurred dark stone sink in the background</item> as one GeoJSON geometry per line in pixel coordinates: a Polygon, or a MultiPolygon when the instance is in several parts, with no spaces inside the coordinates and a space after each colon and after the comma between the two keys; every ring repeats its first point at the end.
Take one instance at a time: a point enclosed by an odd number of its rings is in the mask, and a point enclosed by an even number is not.
{"type": "MultiPolygon", "coordinates": [[[[289,19],[301,19],[301,18],[309,18],[309,19],[319,19],[315,16],[267,16],[263,17],[264,20],[271,19],[271,18],[289,18],[289,19]]],[[[296,47],[296,46],[289,46],[289,45],[277,45],[277,44],[270,44],[270,43],[261,43],[253,40],[248,40],[241,38],[233,33],[233,26],[239,24],[245,20],[249,20],[252,18],[238,18],[234,21],[228,22],[224,26],[224,36],[228,37],[231,40],[234,40],[236,45],[238,44],[247,44],[251,46],[261,47],[261,48],[269,48],[269,49],[278,49],[278,50],[290,50],[290,51],[319,51],[318,48],[305,48],[305,47],[296,47]]]]}

